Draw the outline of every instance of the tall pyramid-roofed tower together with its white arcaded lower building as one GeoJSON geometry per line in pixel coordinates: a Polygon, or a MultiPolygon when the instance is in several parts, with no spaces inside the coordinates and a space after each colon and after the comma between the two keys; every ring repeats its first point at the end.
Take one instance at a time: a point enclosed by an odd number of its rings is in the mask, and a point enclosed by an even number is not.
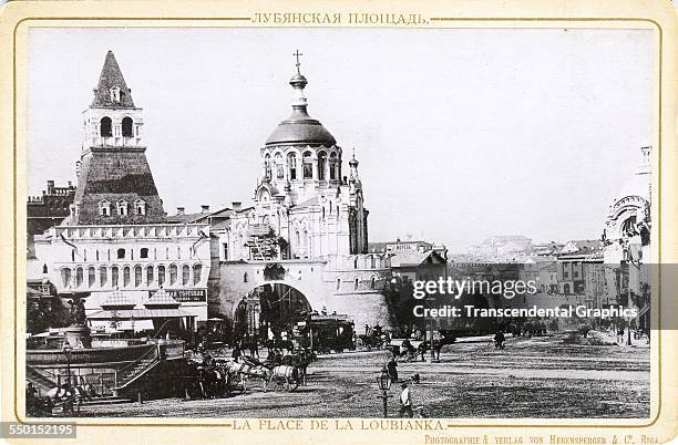
{"type": "Polygon", "coordinates": [[[207,319],[209,226],[165,220],[146,161],[142,108],[111,51],[83,123],[70,214],[35,236],[43,277],[62,299],[85,299],[93,325],[116,317],[117,329],[152,328],[158,319],[195,329],[196,320],[207,319]],[[161,288],[175,309],[148,309],[161,288]],[[126,311],[106,311],[112,300],[124,300],[126,311]]]}

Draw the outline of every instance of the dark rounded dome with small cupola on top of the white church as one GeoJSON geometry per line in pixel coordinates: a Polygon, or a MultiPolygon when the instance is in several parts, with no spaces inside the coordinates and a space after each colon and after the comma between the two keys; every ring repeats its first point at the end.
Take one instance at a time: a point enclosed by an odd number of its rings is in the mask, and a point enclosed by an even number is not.
{"type": "Polygon", "coordinates": [[[335,136],[322,124],[308,115],[307,100],[304,89],[308,80],[299,72],[297,52],[297,73],[289,80],[295,90],[292,114],[278,124],[278,127],[268,136],[266,145],[310,145],[331,147],[337,145],[335,136]]]}

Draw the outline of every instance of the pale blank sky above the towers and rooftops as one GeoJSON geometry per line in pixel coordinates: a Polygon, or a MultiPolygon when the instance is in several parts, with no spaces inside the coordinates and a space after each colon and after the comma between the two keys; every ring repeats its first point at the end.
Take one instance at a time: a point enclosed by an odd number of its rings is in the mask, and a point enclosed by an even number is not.
{"type": "Polygon", "coordinates": [[[32,29],[29,194],[75,180],[113,50],[165,210],[249,201],[296,49],[309,114],[356,147],[372,241],[598,238],[651,143],[651,31],[32,29]]]}

